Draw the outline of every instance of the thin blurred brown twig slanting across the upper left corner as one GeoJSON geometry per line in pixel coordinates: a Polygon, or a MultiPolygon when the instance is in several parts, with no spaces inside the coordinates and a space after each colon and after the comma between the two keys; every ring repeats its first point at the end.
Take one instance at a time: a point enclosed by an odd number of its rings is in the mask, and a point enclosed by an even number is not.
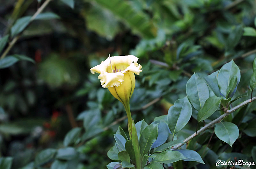
{"type": "MultiPolygon", "coordinates": [[[[44,4],[42,4],[42,6],[40,8],[38,8],[38,10],[36,11],[36,13],[31,17],[30,19],[30,23],[36,18],[36,16],[41,13],[44,8],[46,7],[47,4],[49,4],[49,2],[52,0],[46,0],[44,1],[44,4]]],[[[28,25],[26,26],[26,28],[28,27],[28,25]]],[[[23,31],[26,29],[24,28],[23,31]]],[[[3,59],[8,52],[11,50],[12,46],[17,42],[17,40],[20,38],[21,34],[23,33],[23,31],[21,31],[17,36],[15,36],[12,41],[9,43],[8,47],[5,49],[4,53],[2,54],[2,56],[0,57],[0,59],[3,59]]]]}

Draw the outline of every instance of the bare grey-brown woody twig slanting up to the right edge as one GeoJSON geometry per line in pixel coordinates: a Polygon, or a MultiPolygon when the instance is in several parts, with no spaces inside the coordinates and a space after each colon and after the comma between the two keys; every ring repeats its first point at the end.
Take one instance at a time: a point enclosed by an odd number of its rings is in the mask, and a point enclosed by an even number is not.
{"type": "MultiPolygon", "coordinates": [[[[212,122],[206,124],[204,127],[202,127],[201,129],[199,129],[197,131],[197,133],[194,133],[192,135],[190,135],[189,137],[187,137],[185,140],[183,140],[184,143],[187,143],[189,140],[191,140],[192,138],[196,137],[197,135],[201,134],[203,131],[209,129],[210,127],[212,127],[214,124],[219,123],[222,119],[224,119],[225,117],[227,117],[228,115],[230,115],[231,113],[233,113],[234,111],[236,111],[237,109],[244,107],[245,105],[249,104],[250,102],[253,102],[256,100],[256,97],[253,97],[252,99],[248,99],[244,102],[242,102],[241,104],[233,107],[230,110],[227,110],[223,115],[221,115],[220,117],[216,118],[215,120],[213,120],[212,122]]],[[[183,144],[178,144],[176,146],[174,146],[171,150],[176,150],[178,148],[180,148],[183,144]]]]}

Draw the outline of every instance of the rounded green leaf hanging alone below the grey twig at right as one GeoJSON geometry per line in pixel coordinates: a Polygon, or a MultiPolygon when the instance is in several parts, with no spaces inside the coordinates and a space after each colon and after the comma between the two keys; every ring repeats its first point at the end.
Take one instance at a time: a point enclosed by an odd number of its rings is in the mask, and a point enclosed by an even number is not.
{"type": "Polygon", "coordinates": [[[216,123],[214,132],[220,140],[228,143],[230,147],[232,147],[239,135],[239,130],[236,124],[230,122],[216,123]]]}

